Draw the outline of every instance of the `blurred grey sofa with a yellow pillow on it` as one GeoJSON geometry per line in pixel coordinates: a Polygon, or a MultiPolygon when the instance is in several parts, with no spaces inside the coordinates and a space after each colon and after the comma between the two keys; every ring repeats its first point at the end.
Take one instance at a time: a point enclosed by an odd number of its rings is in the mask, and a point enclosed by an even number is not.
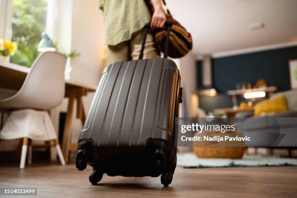
{"type": "Polygon", "coordinates": [[[289,112],[253,117],[253,112],[235,115],[237,128],[252,141],[248,147],[297,147],[297,90],[274,94],[271,98],[285,95],[289,112]]]}

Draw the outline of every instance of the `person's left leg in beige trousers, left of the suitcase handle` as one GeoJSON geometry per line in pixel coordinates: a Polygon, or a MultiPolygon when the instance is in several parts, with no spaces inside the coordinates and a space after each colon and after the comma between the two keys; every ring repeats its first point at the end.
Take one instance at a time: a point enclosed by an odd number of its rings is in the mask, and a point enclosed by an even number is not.
{"type": "Polygon", "coordinates": [[[115,46],[107,46],[107,66],[115,62],[129,60],[131,60],[131,58],[128,42],[121,42],[115,46]]]}

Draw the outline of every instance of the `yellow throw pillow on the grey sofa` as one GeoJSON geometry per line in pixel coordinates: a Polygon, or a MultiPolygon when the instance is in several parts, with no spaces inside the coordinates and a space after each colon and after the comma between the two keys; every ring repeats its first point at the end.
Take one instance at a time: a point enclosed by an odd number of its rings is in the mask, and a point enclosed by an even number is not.
{"type": "Polygon", "coordinates": [[[281,95],[274,99],[264,99],[258,102],[255,105],[254,116],[262,115],[263,113],[271,114],[271,113],[281,113],[287,112],[287,102],[286,97],[281,95]]]}

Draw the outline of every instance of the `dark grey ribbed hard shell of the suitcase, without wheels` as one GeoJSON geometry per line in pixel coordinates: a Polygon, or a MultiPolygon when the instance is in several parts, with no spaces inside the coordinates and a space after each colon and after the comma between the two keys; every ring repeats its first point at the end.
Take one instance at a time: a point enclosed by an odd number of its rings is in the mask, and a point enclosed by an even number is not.
{"type": "Polygon", "coordinates": [[[93,148],[145,149],[149,138],[172,144],[180,79],[169,59],[134,60],[105,68],[80,139],[93,148]]]}

